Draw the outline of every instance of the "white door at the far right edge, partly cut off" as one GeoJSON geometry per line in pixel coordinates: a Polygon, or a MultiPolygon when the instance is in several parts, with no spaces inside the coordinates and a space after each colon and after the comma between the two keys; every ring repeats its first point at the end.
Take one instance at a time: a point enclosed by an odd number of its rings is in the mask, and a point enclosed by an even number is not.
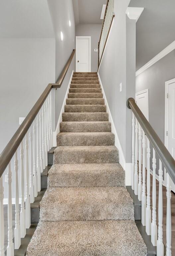
{"type": "MultiPolygon", "coordinates": [[[[175,79],[166,83],[166,146],[175,159],[175,79]],[[172,82],[171,82],[172,81],[172,82]]],[[[171,181],[171,189],[175,192],[175,184],[171,181]]]]}

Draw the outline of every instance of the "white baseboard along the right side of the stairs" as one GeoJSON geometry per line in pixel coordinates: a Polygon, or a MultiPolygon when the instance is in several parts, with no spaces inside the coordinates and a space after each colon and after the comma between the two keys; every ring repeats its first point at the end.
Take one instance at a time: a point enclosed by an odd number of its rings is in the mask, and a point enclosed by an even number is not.
{"type": "Polygon", "coordinates": [[[100,82],[100,85],[101,85],[101,88],[102,88],[102,93],[103,93],[103,96],[104,96],[104,99],[105,99],[106,111],[109,114],[109,122],[111,122],[111,131],[115,135],[115,146],[119,150],[119,163],[121,164],[122,168],[125,170],[125,184],[126,184],[126,186],[131,186],[131,166],[132,166],[132,163],[126,163],[125,162],[125,157],[124,157],[124,154],[123,154],[123,151],[122,151],[122,147],[121,147],[121,144],[120,144],[120,141],[119,141],[119,137],[118,137],[118,134],[117,134],[117,131],[116,131],[116,127],[114,125],[114,121],[113,121],[113,118],[112,118],[112,115],[111,115],[111,111],[109,109],[109,105],[108,105],[108,102],[107,102],[107,99],[106,99],[106,95],[105,95],[105,92],[104,92],[102,81],[100,79],[99,72],[97,74],[98,74],[99,82],[100,82]]]}

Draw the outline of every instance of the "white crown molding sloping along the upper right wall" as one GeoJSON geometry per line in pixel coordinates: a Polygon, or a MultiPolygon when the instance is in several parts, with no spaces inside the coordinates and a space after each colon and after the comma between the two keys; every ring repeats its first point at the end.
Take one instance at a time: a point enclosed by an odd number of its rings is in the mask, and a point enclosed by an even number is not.
{"type": "Polygon", "coordinates": [[[135,72],[135,76],[138,76],[140,73],[145,71],[147,68],[152,66],[154,63],[165,57],[168,53],[173,51],[175,49],[175,41],[173,41],[171,44],[169,44],[165,49],[163,49],[161,52],[159,52],[154,58],[152,58],[150,61],[148,61],[144,66],[142,66],[140,69],[138,69],[135,72]]]}

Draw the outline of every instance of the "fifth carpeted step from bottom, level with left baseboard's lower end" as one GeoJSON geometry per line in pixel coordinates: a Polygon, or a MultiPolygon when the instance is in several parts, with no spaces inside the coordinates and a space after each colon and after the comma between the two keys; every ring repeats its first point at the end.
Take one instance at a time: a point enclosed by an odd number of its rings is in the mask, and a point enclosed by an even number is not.
{"type": "Polygon", "coordinates": [[[112,132],[60,132],[57,146],[111,146],[115,135],[112,132]]]}

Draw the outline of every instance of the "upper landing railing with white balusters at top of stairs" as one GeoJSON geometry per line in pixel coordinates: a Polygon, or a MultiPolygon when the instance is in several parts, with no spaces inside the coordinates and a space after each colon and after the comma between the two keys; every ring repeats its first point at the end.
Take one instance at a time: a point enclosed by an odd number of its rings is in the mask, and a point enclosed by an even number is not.
{"type": "Polygon", "coordinates": [[[106,46],[106,42],[109,36],[111,25],[113,22],[114,15],[114,0],[108,0],[105,9],[105,15],[103,19],[102,30],[98,43],[98,66],[100,65],[102,55],[106,46]]]}

